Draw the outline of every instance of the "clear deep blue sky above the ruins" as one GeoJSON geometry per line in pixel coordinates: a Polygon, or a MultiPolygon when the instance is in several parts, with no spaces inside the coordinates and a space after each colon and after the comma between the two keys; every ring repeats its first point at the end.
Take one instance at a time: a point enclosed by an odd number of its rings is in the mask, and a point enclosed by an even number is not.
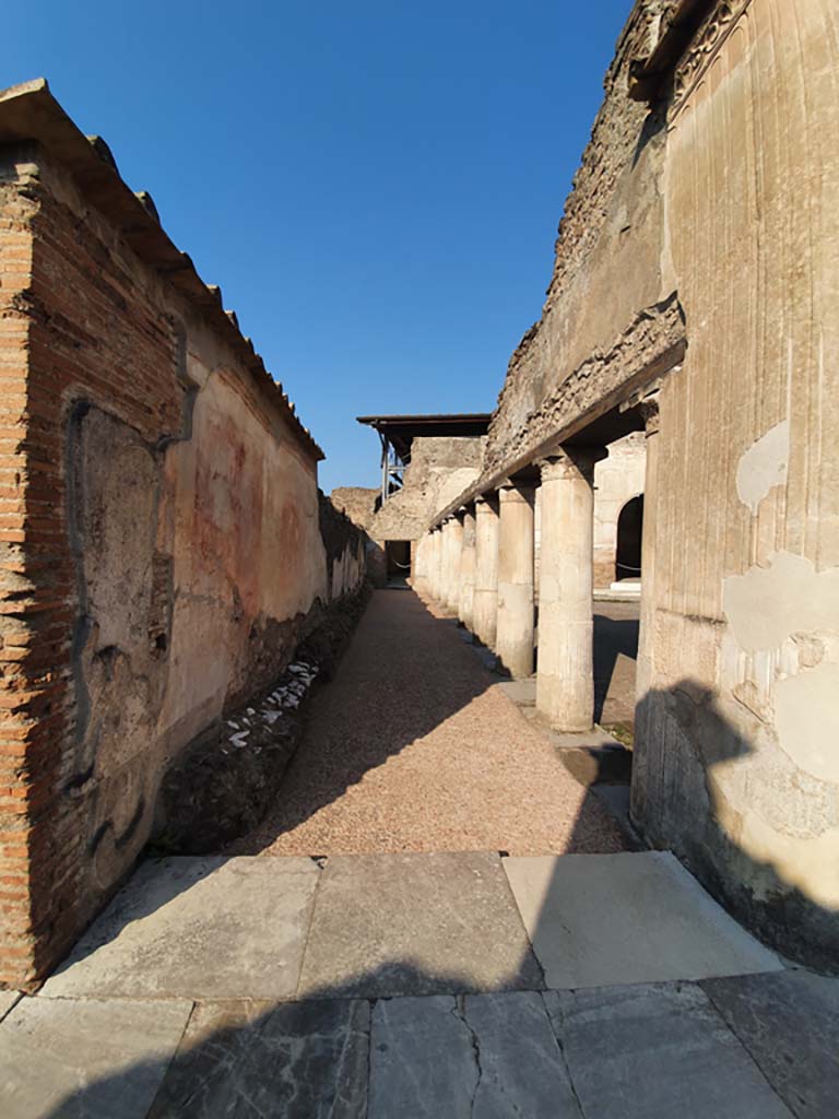
{"type": "Polygon", "coordinates": [[[45,76],[218,283],[321,443],[355,416],[490,411],[631,0],[29,0],[0,87],[45,76]]]}

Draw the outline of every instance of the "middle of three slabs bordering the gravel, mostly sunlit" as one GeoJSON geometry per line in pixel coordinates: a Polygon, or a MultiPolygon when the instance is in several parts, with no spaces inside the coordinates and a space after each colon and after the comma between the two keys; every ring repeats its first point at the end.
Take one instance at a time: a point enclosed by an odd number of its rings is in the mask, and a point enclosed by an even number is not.
{"type": "Polygon", "coordinates": [[[541,986],[498,855],[356,855],[327,863],[301,997],[541,986]]]}

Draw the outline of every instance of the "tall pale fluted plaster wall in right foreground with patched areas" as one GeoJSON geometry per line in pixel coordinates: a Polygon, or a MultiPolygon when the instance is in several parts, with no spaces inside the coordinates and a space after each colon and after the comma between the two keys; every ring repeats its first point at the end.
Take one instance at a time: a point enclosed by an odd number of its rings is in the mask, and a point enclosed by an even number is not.
{"type": "Polygon", "coordinates": [[[633,777],[649,837],[767,939],[832,968],[838,30],[828,0],[719,4],[677,67],[664,232],[689,346],[652,436],[633,777]]]}

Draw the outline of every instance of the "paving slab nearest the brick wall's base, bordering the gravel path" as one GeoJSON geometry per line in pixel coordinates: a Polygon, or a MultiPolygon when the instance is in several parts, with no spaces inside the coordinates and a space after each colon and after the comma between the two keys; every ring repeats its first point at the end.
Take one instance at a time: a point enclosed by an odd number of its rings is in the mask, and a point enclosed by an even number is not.
{"type": "Polygon", "coordinates": [[[320,873],[309,858],[144,863],[41,997],[292,997],[320,873]]]}

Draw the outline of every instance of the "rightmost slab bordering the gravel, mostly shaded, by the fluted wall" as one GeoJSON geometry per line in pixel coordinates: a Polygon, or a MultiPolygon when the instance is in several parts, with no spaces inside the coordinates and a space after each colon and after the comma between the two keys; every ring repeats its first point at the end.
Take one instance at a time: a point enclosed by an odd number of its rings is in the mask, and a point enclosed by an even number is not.
{"type": "Polygon", "coordinates": [[[666,852],[511,857],[503,866],[548,987],[782,968],[666,852]]]}

